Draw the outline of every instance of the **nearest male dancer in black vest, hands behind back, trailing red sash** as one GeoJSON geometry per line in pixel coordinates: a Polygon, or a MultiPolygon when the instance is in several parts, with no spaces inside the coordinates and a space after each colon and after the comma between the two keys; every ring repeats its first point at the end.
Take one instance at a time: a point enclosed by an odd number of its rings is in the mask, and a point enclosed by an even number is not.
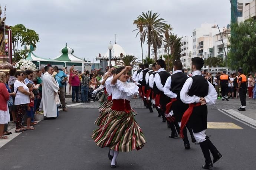
{"type": "Polygon", "coordinates": [[[188,78],[180,91],[180,99],[183,103],[189,104],[188,110],[181,119],[180,135],[183,136],[183,129],[186,123],[190,122],[194,137],[199,142],[205,158],[203,169],[213,167],[213,163],[217,162],[222,155],[211,143],[206,136],[207,129],[207,106],[214,104],[217,100],[217,92],[213,85],[201,76],[201,68],[204,60],[200,57],[194,57],[192,61],[192,77],[188,78]],[[210,152],[213,154],[213,162],[211,162],[210,152]]]}

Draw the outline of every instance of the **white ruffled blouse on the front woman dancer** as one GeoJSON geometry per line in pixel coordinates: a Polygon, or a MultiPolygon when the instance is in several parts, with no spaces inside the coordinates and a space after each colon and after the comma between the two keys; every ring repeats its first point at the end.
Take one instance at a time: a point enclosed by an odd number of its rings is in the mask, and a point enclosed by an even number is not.
{"type": "Polygon", "coordinates": [[[138,94],[139,87],[135,83],[122,82],[117,80],[116,84],[106,85],[106,91],[112,95],[112,99],[126,99],[131,101],[133,95],[138,94]]]}

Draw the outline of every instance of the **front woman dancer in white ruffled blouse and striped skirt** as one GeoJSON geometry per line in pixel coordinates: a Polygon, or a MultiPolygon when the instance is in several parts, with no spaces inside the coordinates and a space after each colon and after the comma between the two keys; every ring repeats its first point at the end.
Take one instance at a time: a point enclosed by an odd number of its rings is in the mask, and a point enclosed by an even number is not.
{"type": "Polygon", "coordinates": [[[135,83],[128,83],[131,67],[121,67],[111,84],[106,86],[109,95],[112,95],[113,106],[108,113],[105,125],[93,131],[92,139],[99,147],[109,147],[108,157],[111,168],[116,167],[116,157],[119,152],[129,152],[141,149],[146,143],[140,126],[134,119],[134,110],[130,100],[138,93],[135,83]]]}

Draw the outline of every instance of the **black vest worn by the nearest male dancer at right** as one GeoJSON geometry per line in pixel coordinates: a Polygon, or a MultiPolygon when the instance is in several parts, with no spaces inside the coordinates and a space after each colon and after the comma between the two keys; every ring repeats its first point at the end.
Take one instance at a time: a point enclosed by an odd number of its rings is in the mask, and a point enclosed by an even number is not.
{"type": "Polygon", "coordinates": [[[208,94],[209,84],[208,81],[201,75],[195,75],[191,77],[193,83],[188,91],[189,96],[205,97],[208,94]]]}

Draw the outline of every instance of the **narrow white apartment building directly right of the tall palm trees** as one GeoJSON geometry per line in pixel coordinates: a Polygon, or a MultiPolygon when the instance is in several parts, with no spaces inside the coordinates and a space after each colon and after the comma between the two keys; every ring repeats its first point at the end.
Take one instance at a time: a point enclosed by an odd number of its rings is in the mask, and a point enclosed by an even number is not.
{"type": "Polygon", "coordinates": [[[192,36],[190,37],[186,36],[181,39],[180,61],[182,62],[183,68],[188,69],[191,67],[191,57],[192,57],[192,36]]]}

